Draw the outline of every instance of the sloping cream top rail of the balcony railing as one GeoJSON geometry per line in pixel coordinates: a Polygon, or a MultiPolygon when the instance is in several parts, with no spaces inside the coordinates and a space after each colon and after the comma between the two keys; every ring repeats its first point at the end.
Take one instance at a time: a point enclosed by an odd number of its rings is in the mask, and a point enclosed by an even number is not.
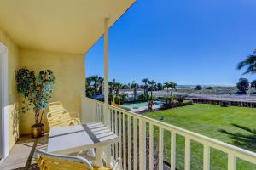
{"type": "Polygon", "coordinates": [[[121,111],[127,115],[135,116],[138,119],[142,119],[144,122],[153,123],[154,126],[164,128],[168,131],[180,134],[182,136],[187,136],[187,137],[189,137],[189,139],[193,139],[199,143],[208,144],[209,146],[211,146],[212,148],[215,148],[217,150],[221,149],[221,151],[224,151],[226,153],[232,152],[236,157],[240,157],[243,160],[245,159],[244,156],[247,156],[246,161],[250,161],[250,162],[256,164],[256,153],[254,153],[252,151],[241,149],[234,145],[227,144],[222,141],[218,141],[217,139],[209,138],[209,137],[201,135],[199,133],[191,132],[191,131],[183,129],[181,127],[176,127],[176,126],[168,124],[166,122],[160,122],[158,120],[149,118],[147,116],[139,115],[139,114],[131,112],[131,111],[126,111],[122,108],[119,108],[119,107],[116,107],[113,105],[108,105],[108,106],[109,106],[109,108],[113,108],[114,110],[121,111]]]}

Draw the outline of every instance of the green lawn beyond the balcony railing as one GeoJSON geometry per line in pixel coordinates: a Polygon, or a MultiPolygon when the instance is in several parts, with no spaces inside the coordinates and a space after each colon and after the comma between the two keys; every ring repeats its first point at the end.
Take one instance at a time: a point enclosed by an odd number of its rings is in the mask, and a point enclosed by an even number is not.
{"type": "MultiPolygon", "coordinates": [[[[256,109],[243,107],[220,107],[218,105],[194,104],[165,111],[144,114],[154,119],[164,116],[163,122],[183,127],[241,148],[256,151],[256,109]],[[236,124],[236,125],[234,125],[236,124]]],[[[157,144],[155,129],[155,143],[157,144]]],[[[170,133],[165,132],[165,159],[170,160],[170,133]]],[[[191,169],[202,169],[203,146],[195,141],[191,144],[191,169]]],[[[177,168],[183,169],[184,138],[177,136],[177,168]]],[[[211,150],[211,170],[227,169],[224,152],[211,150]]],[[[236,169],[256,169],[256,166],[238,160],[236,169]]]]}

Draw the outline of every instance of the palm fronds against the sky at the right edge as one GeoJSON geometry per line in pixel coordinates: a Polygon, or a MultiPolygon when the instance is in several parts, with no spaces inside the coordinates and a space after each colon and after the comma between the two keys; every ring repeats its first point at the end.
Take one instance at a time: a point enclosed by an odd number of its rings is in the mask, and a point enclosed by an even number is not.
{"type": "Polygon", "coordinates": [[[237,69],[240,70],[245,66],[247,66],[247,71],[243,73],[244,75],[248,73],[256,73],[256,50],[253,51],[252,55],[247,56],[247,59],[238,63],[237,69]]]}

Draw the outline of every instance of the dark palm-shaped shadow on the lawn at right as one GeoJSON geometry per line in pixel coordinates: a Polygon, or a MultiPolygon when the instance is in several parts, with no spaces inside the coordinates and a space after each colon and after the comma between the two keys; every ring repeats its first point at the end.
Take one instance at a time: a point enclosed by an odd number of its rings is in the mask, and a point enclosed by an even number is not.
{"type": "Polygon", "coordinates": [[[231,124],[233,127],[237,127],[241,130],[244,130],[247,132],[245,133],[230,133],[224,129],[218,130],[221,133],[227,134],[230,136],[231,139],[233,139],[232,144],[236,145],[238,147],[244,148],[246,150],[251,150],[256,152],[256,130],[253,130],[251,128],[237,125],[237,124],[231,124]]]}

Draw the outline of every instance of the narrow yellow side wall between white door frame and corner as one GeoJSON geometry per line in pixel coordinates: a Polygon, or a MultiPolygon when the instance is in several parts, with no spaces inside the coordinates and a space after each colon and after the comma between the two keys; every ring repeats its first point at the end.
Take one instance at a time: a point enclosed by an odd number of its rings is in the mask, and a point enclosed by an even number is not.
{"type": "Polygon", "coordinates": [[[19,68],[19,48],[0,28],[0,42],[8,48],[8,78],[9,78],[9,149],[19,138],[18,97],[15,86],[15,70],[19,68]]]}

